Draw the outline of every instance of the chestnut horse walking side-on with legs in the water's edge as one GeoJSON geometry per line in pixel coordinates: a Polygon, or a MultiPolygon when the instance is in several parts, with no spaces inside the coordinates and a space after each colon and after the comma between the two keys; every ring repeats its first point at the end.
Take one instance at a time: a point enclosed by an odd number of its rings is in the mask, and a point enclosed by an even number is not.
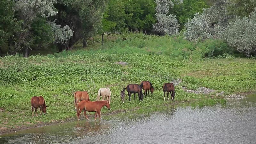
{"type": "MultiPolygon", "coordinates": [[[[76,116],[77,119],[79,120],[79,116],[82,112],[82,110],[84,110],[84,116],[86,117],[86,119],[89,119],[86,116],[86,111],[89,112],[95,112],[95,120],[97,117],[97,113],[99,114],[100,117],[100,110],[102,107],[106,106],[108,109],[110,109],[110,104],[107,100],[100,100],[100,101],[86,101],[86,100],[82,100],[77,104],[77,111],[76,111],[76,116]]],[[[101,117],[100,117],[101,120],[101,117]]]]}

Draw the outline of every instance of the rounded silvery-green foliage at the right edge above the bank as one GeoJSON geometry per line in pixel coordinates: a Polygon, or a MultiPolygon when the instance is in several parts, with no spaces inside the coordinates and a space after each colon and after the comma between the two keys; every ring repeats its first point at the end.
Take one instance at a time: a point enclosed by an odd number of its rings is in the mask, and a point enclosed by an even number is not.
{"type": "Polygon", "coordinates": [[[256,9],[249,17],[230,22],[222,38],[246,56],[256,55],[256,9]]]}

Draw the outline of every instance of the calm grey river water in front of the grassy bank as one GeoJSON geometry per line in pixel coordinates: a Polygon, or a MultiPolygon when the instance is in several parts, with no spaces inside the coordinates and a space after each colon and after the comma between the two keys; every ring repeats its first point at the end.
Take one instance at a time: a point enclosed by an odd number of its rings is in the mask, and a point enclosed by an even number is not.
{"type": "MultiPolygon", "coordinates": [[[[82,116],[82,115],[81,115],[82,116]]],[[[104,115],[103,115],[104,117],[104,115]]],[[[256,143],[256,95],[225,105],[73,121],[0,135],[0,143],[256,143]]]]}

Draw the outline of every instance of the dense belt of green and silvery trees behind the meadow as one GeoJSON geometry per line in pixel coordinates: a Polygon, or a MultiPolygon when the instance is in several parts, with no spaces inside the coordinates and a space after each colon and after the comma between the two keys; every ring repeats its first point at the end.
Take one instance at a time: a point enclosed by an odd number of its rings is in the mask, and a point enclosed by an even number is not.
{"type": "MultiPolygon", "coordinates": [[[[217,39],[255,56],[256,0],[1,0],[0,56],[86,46],[95,35],[140,32],[217,39]]],[[[196,50],[196,49],[195,49],[196,50]]],[[[227,51],[223,50],[223,52],[227,51]]]]}

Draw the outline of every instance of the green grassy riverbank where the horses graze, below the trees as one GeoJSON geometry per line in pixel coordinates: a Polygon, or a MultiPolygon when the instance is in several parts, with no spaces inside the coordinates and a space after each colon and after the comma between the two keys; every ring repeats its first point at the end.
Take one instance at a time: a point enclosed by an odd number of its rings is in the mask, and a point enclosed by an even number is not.
{"type": "MultiPolygon", "coordinates": [[[[104,118],[104,113],[131,109],[143,112],[163,105],[215,98],[214,94],[185,92],[182,86],[189,89],[204,86],[216,92],[224,91],[225,94],[249,92],[256,88],[256,61],[253,59],[224,55],[218,59],[201,60],[200,57],[200,60],[193,60],[190,57],[194,51],[189,51],[187,56],[172,53],[182,50],[184,44],[191,49],[195,47],[195,44],[187,41],[177,41],[173,37],[163,37],[164,40],[161,40],[161,37],[154,36],[126,39],[122,40],[121,37],[103,47],[94,46],[47,56],[1,57],[0,131],[75,119],[75,91],[88,91],[90,99],[94,101],[99,88],[109,87],[112,93],[111,110],[103,108],[104,118]],[[179,43],[181,46],[175,47],[179,43]],[[128,65],[116,64],[118,61],[128,62],[128,65]],[[183,82],[175,87],[175,100],[163,101],[163,84],[177,78],[183,82]],[[133,100],[132,95],[132,101],[129,101],[126,92],[125,103],[121,104],[122,87],[139,84],[143,80],[153,84],[154,95],[144,97],[143,101],[138,100],[138,95],[133,100]],[[44,97],[48,106],[46,116],[32,117],[30,99],[33,96],[44,97]]],[[[211,105],[215,102],[208,103],[211,105]]],[[[202,105],[197,103],[196,107],[202,105]]]]}

